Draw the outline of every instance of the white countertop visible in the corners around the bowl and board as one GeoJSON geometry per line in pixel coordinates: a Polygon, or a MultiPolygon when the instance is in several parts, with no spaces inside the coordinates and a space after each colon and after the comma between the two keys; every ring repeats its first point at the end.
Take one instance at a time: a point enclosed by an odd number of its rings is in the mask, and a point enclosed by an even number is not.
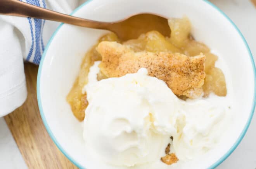
{"type": "MultiPolygon", "coordinates": [[[[249,0],[211,0],[238,26],[256,60],[256,8],[249,0]]],[[[218,169],[256,169],[256,116],[235,151],[218,169]]],[[[0,168],[26,169],[27,166],[3,118],[0,118],[0,168]]]]}

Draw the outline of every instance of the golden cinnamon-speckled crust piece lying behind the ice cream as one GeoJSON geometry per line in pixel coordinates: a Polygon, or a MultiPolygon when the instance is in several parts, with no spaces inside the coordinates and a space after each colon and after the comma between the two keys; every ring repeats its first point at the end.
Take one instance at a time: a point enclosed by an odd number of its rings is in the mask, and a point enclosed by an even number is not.
{"type": "Polygon", "coordinates": [[[181,53],[134,52],[116,42],[101,42],[97,51],[102,55],[100,71],[107,78],[135,73],[144,67],[149,76],[166,82],[176,95],[199,97],[204,83],[205,56],[187,57],[181,53]]]}

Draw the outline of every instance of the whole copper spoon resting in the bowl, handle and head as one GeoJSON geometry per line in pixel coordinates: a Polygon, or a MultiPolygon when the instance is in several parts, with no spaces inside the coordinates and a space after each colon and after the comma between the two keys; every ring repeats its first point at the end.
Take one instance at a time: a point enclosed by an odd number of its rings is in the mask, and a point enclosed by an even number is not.
{"type": "Polygon", "coordinates": [[[159,31],[164,36],[170,36],[168,20],[150,13],[132,15],[116,22],[99,22],[54,12],[19,0],[0,0],[0,14],[35,17],[87,28],[107,29],[116,33],[121,40],[137,38],[140,34],[152,30],[159,31]]]}

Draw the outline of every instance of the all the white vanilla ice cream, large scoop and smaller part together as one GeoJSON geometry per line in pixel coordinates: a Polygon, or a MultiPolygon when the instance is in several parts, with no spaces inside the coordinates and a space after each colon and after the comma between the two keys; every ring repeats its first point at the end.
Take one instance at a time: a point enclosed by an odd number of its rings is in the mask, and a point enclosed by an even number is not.
{"type": "Polygon", "coordinates": [[[97,81],[99,62],[91,67],[85,110],[84,139],[97,157],[113,166],[154,163],[171,152],[180,161],[214,148],[230,122],[225,97],[180,100],[164,81],[147,69],[97,81]]]}

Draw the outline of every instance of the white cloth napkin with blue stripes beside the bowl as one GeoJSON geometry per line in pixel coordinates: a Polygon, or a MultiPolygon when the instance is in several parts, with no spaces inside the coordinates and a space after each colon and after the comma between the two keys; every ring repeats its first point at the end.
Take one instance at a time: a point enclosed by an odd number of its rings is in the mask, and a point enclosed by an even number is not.
{"type": "MultiPolygon", "coordinates": [[[[22,1],[65,14],[70,14],[81,3],[80,0],[22,1]]],[[[26,100],[23,60],[39,64],[44,47],[59,24],[0,15],[0,117],[26,100]]]]}

